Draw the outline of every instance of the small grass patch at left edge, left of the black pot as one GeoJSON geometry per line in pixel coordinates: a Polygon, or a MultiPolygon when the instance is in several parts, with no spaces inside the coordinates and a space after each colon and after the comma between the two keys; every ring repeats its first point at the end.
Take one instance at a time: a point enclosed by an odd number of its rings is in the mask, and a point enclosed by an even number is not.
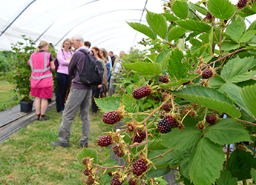
{"type": "Polygon", "coordinates": [[[18,93],[13,91],[13,87],[14,85],[7,81],[0,81],[0,111],[19,104],[20,98],[18,93]]]}

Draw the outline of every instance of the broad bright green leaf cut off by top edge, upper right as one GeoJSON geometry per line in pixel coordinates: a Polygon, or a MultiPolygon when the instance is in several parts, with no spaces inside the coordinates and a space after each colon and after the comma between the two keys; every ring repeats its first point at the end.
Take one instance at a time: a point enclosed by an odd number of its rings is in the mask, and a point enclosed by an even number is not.
{"type": "Polygon", "coordinates": [[[229,0],[209,0],[206,6],[212,16],[223,21],[231,19],[236,11],[229,0]]]}

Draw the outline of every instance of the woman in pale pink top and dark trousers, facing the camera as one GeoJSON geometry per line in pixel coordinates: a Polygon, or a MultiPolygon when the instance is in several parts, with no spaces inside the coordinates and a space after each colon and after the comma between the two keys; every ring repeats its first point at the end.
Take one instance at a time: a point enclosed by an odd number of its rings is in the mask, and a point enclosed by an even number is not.
{"type": "Polygon", "coordinates": [[[56,80],[58,83],[58,90],[56,93],[56,108],[57,112],[62,113],[64,110],[65,98],[68,87],[70,85],[71,76],[68,75],[68,64],[73,56],[73,51],[71,51],[71,40],[69,38],[65,39],[62,43],[62,50],[59,50],[56,57],[59,62],[59,67],[57,70],[56,80]]]}

